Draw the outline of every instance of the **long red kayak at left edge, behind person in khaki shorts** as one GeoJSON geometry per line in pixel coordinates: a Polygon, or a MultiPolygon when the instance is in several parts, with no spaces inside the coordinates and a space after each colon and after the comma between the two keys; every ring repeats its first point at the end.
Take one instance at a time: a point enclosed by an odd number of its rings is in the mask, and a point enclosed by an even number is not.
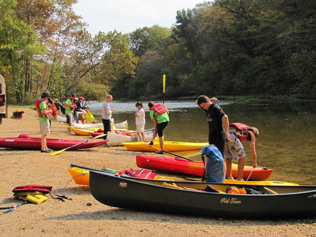
{"type": "MultiPolygon", "coordinates": [[[[83,140],[68,140],[68,139],[56,139],[47,138],[47,147],[53,150],[62,150],[73,145],[76,145],[83,140]]],[[[97,140],[82,143],[78,146],[70,148],[69,150],[86,149],[92,147],[98,147],[108,142],[108,140],[97,140]]],[[[30,149],[40,150],[41,149],[41,138],[31,137],[27,134],[20,134],[18,137],[6,137],[0,138],[0,148],[15,148],[15,149],[30,149]]]]}

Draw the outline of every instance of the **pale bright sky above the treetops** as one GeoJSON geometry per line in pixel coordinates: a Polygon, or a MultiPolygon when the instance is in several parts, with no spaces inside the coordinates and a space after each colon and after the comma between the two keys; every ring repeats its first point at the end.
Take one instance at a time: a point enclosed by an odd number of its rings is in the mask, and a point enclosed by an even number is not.
{"type": "Polygon", "coordinates": [[[176,11],[193,9],[200,2],[203,0],[78,0],[73,10],[88,23],[92,35],[114,30],[127,34],[145,26],[170,28],[176,23],[176,11]]]}

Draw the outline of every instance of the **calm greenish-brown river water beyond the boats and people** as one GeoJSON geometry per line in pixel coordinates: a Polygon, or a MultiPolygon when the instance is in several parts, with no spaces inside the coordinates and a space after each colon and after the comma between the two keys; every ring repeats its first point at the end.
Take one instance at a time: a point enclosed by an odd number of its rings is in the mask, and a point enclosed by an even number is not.
{"type": "MultiPolygon", "coordinates": [[[[110,103],[115,111],[115,123],[127,119],[128,127],[136,130],[135,103],[110,103]]],[[[194,101],[166,101],[170,123],[165,129],[165,140],[207,142],[208,124],[205,112],[194,101]]],[[[147,101],[145,129],[153,127],[147,101]]],[[[91,113],[101,119],[102,103],[91,104],[91,113]]],[[[257,164],[274,169],[269,180],[281,180],[301,185],[316,185],[314,160],[316,158],[316,101],[296,102],[231,102],[220,101],[219,105],[228,115],[229,122],[241,122],[259,130],[257,140],[257,164]]],[[[243,143],[247,160],[252,165],[249,142],[243,143]]],[[[179,155],[200,160],[199,151],[177,152],[179,155]]]]}

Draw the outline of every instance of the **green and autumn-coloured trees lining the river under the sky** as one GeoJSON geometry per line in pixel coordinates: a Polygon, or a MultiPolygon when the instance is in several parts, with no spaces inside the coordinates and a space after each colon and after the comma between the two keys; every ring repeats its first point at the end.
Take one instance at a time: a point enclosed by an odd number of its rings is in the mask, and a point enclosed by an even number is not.
{"type": "Polygon", "coordinates": [[[316,2],[214,0],[176,12],[170,28],[92,36],[77,0],[1,0],[0,74],[30,91],[102,101],[198,96],[316,96],[316,2]]]}

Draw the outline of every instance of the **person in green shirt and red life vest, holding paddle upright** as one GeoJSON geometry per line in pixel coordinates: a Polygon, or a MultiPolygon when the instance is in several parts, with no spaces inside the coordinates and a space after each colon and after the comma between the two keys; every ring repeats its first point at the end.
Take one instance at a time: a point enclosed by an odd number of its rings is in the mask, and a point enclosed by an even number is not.
{"type": "MultiPolygon", "coordinates": [[[[150,110],[150,118],[153,120],[155,125],[155,131],[153,134],[153,138],[149,145],[154,144],[154,139],[156,138],[157,134],[159,137],[159,145],[160,149],[163,150],[163,130],[167,127],[169,123],[169,111],[166,108],[165,104],[156,104],[154,102],[149,102],[148,107],[150,110]]],[[[158,154],[164,154],[164,152],[159,151],[158,154]]]]}

